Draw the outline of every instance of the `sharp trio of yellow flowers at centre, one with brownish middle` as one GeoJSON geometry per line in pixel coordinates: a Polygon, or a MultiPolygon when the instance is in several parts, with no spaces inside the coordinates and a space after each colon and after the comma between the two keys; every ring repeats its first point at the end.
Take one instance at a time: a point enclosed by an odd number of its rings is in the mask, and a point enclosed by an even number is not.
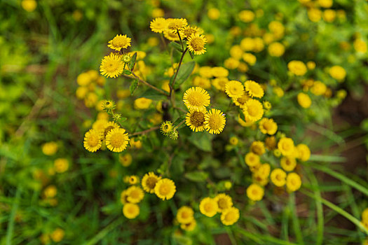
{"type": "Polygon", "coordinates": [[[186,125],[195,132],[207,130],[210,134],[219,134],[224,130],[226,118],[222,111],[206,107],[210,105],[210,94],[202,87],[190,87],[184,92],[183,102],[186,113],[186,125]]]}

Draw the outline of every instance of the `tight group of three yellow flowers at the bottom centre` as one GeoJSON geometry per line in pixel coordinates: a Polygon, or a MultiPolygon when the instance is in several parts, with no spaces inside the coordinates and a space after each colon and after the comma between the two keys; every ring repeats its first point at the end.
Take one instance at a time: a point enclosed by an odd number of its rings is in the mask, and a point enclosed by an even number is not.
{"type": "Polygon", "coordinates": [[[239,209],[233,207],[233,200],[224,193],[220,193],[214,198],[203,198],[199,204],[199,211],[207,217],[213,217],[220,213],[221,222],[224,225],[233,225],[240,218],[239,209]]]}

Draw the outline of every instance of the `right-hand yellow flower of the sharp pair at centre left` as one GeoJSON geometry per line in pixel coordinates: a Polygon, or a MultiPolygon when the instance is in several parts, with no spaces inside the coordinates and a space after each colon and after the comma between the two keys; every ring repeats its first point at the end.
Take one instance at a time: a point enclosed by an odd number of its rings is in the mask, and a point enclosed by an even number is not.
{"type": "Polygon", "coordinates": [[[128,146],[129,137],[122,128],[114,128],[106,135],[106,146],[110,151],[120,153],[128,146]]]}

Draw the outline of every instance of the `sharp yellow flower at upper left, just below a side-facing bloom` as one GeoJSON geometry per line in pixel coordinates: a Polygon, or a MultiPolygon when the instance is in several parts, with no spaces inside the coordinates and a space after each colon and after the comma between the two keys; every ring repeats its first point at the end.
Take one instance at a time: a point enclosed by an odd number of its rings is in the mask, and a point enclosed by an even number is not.
{"type": "Polygon", "coordinates": [[[100,65],[100,72],[103,76],[107,76],[108,78],[116,78],[124,70],[124,62],[121,60],[119,55],[116,55],[114,52],[107,55],[102,59],[100,65]]]}

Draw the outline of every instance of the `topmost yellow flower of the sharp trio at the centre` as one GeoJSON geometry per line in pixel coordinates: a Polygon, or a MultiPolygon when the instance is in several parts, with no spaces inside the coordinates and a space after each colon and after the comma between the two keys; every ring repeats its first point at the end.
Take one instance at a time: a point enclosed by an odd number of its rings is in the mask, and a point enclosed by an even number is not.
{"type": "Polygon", "coordinates": [[[210,105],[210,94],[202,87],[189,87],[184,92],[183,102],[190,111],[203,111],[210,105]]]}

